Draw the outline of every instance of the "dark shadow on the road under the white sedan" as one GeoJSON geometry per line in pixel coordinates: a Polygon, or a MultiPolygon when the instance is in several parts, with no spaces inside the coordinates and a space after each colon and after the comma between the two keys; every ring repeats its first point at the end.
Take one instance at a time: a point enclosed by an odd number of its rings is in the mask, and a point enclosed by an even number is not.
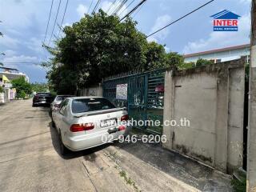
{"type": "MultiPolygon", "coordinates": [[[[102,145],[102,146],[96,146],[94,148],[88,149],[88,150],[81,150],[81,151],[69,151],[68,154],[66,154],[65,156],[63,156],[60,153],[60,146],[59,146],[59,139],[58,139],[58,131],[52,126],[52,123],[49,122],[49,128],[50,128],[50,136],[52,139],[52,143],[54,146],[54,150],[56,150],[56,152],[58,153],[58,155],[64,159],[72,159],[72,158],[79,158],[82,156],[94,156],[94,153],[97,152],[98,150],[103,150],[105,149],[107,146],[109,146],[109,144],[106,145],[102,145]]],[[[86,157],[84,157],[86,158],[86,157]]]]}

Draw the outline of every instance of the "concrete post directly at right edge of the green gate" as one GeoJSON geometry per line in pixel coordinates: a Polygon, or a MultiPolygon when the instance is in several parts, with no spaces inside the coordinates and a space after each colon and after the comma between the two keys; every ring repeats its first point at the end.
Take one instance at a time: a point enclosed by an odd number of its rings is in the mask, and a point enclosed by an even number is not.
{"type": "Polygon", "coordinates": [[[168,150],[173,149],[173,127],[166,125],[165,122],[171,121],[173,118],[174,108],[174,81],[173,70],[166,70],[165,74],[165,92],[164,92],[164,109],[163,109],[163,130],[162,135],[166,135],[166,142],[162,146],[168,150]]]}

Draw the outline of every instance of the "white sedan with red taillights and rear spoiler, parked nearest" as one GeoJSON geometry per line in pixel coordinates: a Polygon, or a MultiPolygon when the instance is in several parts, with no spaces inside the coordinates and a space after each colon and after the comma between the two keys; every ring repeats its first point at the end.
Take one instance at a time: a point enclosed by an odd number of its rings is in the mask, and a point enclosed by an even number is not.
{"type": "Polygon", "coordinates": [[[61,153],[86,150],[128,134],[126,108],[117,108],[106,98],[66,98],[54,110],[53,126],[59,134],[61,153]]]}

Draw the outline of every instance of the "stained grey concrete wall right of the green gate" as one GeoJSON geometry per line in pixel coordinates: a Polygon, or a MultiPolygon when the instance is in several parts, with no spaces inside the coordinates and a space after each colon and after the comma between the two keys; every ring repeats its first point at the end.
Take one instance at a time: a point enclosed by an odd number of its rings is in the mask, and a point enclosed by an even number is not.
{"type": "Polygon", "coordinates": [[[183,71],[166,71],[163,147],[222,172],[242,166],[245,58],[183,71]]]}

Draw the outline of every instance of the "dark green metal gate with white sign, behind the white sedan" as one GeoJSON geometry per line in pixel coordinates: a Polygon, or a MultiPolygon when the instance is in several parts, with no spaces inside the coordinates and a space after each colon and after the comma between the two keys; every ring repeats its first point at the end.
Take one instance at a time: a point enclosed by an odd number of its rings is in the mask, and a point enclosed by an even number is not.
{"type": "MultiPolygon", "coordinates": [[[[154,70],[141,74],[127,74],[108,78],[103,82],[103,96],[116,106],[125,106],[130,118],[146,121],[158,120],[159,126],[147,125],[135,127],[155,134],[162,134],[164,73],[166,70],[154,70]],[[127,95],[118,97],[117,87],[127,87],[127,95]]],[[[149,121],[147,121],[149,122],[149,121]]]]}

